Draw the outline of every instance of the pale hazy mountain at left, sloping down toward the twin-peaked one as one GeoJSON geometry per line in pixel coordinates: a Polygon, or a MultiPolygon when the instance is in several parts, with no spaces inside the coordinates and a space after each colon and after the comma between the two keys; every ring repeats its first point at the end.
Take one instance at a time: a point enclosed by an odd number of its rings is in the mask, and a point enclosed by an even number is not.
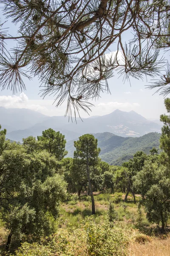
{"type": "Polygon", "coordinates": [[[0,124],[7,129],[6,137],[10,140],[22,142],[28,136],[37,137],[42,131],[52,128],[65,135],[66,140],[73,140],[81,134],[68,131],[64,126],[68,124],[68,117],[45,116],[37,111],[25,108],[3,108],[0,107],[0,124]]]}

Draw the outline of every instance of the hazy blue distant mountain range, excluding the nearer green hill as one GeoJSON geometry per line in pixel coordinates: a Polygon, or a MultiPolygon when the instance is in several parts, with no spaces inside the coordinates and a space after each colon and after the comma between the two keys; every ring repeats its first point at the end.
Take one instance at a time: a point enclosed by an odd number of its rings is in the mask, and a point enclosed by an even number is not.
{"type": "Polygon", "coordinates": [[[86,133],[110,132],[122,137],[140,137],[149,132],[161,131],[160,124],[149,121],[134,111],[118,109],[108,115],[68,122],[68,117],[64,116],[45,116],[29,109],[0,107],[0,124],[7,129],[10,140],[20,142],[30,135],[37,137],[48,128],[60,131],[68,141],[86,133]]]}

